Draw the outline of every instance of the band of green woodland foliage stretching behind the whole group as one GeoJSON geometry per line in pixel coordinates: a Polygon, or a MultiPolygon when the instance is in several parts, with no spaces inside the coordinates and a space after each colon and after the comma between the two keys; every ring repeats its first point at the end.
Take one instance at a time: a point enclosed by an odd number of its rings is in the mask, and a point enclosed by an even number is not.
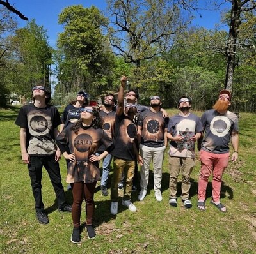
{"type": "MultiPolygon", "coordinates": [[[[82,89],[93,99],[116,92],[120,77],[127,75],[126,88],[138,88],[142,104],[147,105],[148,97],[158,94],[164,107],[176,107],[180,94],[188,94],[193,97],[193,107],[211,108],[215,95],[225,86],[231,48],[228,32],[218,26],[214,30],[188,27],[198,11],[197,3],[108,0],[108,16],[94,6],[68,6],[59,16],[64,30],[58,38],[58,50],[49,47],[47,31],[35,20],[17,29],[10,12],[0,8],[1,104],[8,101],[10,91],[30,100],[35,84],[50,86],[54,63],[57,104],[66,103],[66,95],[82,89]]],[[[250,8],[239,14],[232,107],[255,112],[255,3],[241,3],[250,8]]],[[[225,11],[228,25],[232,12],[225,11]]]]}

